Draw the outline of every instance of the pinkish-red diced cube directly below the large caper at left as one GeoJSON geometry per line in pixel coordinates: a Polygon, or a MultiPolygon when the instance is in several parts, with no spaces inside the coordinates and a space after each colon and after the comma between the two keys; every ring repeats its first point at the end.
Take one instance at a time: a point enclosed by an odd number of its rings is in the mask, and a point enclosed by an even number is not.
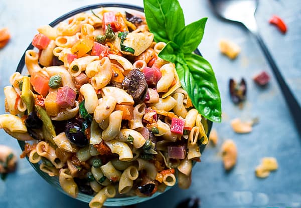
{"type": "Polygon", "coordinates": [[[56,103],[61,108],[67,108],[74,105],[76,92],[69,86],[64,86],[58,89],[56,103]]]}

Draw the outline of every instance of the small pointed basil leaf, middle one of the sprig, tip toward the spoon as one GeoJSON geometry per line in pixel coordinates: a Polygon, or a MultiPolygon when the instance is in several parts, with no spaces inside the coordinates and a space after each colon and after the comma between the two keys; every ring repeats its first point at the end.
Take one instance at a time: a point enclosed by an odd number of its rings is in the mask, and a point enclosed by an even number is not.
{"type": "Polygon", "coordinates": [[[191,23],[183,28],[175,37],[175,43],[185,54],[190,54],[200,45],[207,18],[191,23]]]}

